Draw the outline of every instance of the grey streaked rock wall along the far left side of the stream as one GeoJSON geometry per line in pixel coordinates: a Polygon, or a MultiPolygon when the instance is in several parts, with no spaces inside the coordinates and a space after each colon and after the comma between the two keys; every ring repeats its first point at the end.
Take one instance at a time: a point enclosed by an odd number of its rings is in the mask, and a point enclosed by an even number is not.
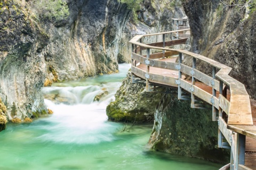
{"type": "Polygon", "coordinates": [[[31,3],[0,3],[0,97],[9,119],[47,114],[43,84],[116,72],[118,63],[130,62],[131,37],[170,30],[174,14],[166,1],[146,0],[136,21],[117,0],[68,0],[68,18],[55,20],[36,18],[31,3]]]}

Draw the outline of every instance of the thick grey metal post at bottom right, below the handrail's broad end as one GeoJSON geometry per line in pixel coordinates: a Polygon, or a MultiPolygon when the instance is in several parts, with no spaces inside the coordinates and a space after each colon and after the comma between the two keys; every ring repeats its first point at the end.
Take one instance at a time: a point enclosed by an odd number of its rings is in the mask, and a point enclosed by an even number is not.
{"type": "Polygon", "coordinates": [[[237,133],[235,169],[238,169],[238,164],[244,165],[244,158],[245,158],[245,135],[237,133]]]}

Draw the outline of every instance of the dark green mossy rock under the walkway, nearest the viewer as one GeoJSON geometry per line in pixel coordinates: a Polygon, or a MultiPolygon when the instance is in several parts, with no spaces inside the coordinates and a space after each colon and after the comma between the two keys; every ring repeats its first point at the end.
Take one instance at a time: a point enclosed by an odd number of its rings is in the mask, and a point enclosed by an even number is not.
{"type": "Polygon", "coordinates": [[[228,163],[229,150],[216,147],[217,132],[211,111],[190,108],[190,101],[165,94],[156,108],[149,144],[157,151],[228,163]]]}

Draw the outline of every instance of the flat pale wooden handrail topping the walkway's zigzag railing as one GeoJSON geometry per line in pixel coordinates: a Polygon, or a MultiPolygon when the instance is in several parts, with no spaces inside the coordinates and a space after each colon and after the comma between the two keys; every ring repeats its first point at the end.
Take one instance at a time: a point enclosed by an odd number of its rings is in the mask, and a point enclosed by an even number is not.
{"type": "MultiPolygon", "coordinates": [[[[189,29],[169,31],[169,32],[164,32],[162,34],[176,33],[176,32],[187,31],[187,30],[189,29]]],[[[236,79],[228,75],[231,71],[231,67],[221,64],[205,56],[188,52],[186,50],[154,47],[154,46],[150,46],[150,45],[138,42],[142,37],[154,36],[154,35],[161,35],[161,33],[135,36],[130,40],[130,43],[140,47],[144,47],[144,48],[159,49],[159,50],[173,51],[181,54],[186,54],[188,56],[191,56],[193,58],[206,62],[207,64],[210,64],[220,69],[215,74],[215,76],[219,78],[220,81],[227,84],[230,88],[230,107],[228,111],[228,124],[253,125],[249,95],[247,94],[244,84],[242,84],[241,82],[237,81],[236,79]]],[[[223,99],[220,97],[220,100],[223,100],[223,99]]]]}

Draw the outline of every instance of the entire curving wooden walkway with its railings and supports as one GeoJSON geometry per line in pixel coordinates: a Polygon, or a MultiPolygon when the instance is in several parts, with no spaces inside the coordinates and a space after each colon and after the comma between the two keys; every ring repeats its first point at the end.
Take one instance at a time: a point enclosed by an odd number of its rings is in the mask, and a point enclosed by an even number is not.
{"type": "Polygon", "coordinates": [[[226,65],[183,49],[166,48],[186,43],[190,36],[186,22],[173,19],[176,30],[137,35],[130,40],[132,81],[146,80],[147,91],[150,85],[177,88],[178,99],[191,100],[192,108],[209,109],[198,101],[211,105],[212,121],[219,125],[218,147],[231,150],[230,164],[221,169],[256,169],[256,126],[244,84],[228,75],[231,68],[226,65]],[[143,43],[149,36],[161,42],[143,43]],[[191,58],[191,66],[182,63],[184,57],[191,58]],[[211,76],[196,69],[198,62],[212,67],[211,76]]]}

